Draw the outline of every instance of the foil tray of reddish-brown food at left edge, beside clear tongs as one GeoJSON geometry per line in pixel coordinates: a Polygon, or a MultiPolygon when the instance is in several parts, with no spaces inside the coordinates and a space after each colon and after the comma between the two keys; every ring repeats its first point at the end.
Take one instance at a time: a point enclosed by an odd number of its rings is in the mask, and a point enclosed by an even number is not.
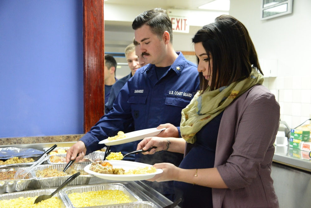
{"type": "MultiPolygon", "coordinates": [[[[0,172],[14,171],[17,169],[26,170],[27,167],[0,169],[0,172]]],[[[28,174],[28,176],[29,176],[29,179],[1,180],[0,181],[0,194],[5,193],[5,192],[27,190],[29,183],[31,182],[31,180],[35,178],[33,174],[28,174]]]]}

